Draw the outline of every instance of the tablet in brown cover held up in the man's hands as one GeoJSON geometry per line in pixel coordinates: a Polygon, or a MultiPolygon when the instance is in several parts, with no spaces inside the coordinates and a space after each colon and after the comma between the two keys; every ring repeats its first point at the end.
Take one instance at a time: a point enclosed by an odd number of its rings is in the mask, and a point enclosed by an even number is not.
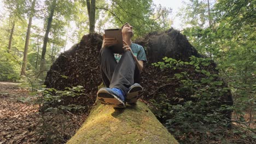
{"type": "Polygon", "coordinates": [[[105,29],[105,38],[115,38],[118,41],[118,44],[110,46],[109,48],[113,53],[123,53],[123,36],[122,30],[117,29],[105,29]]]}

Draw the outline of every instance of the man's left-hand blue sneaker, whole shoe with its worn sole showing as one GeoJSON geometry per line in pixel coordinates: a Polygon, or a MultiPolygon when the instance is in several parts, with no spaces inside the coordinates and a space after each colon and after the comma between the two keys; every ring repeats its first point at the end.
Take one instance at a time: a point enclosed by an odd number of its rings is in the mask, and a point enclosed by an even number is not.
{"type": "Polygon", "coordinates": [[[101,88],[98,90],[97,99],[104,105],[110,105],[112,107],[126,107],[125,95],[119,88],[101,88]]]}

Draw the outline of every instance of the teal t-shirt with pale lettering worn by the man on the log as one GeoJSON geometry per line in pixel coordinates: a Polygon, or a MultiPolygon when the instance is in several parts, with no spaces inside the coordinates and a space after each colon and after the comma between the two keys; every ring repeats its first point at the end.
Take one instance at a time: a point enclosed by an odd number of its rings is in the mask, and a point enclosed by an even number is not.
{"type": "MultiPolygon", "coordinates": [[[[133,54],[137,57],[138,61],[147,62],[146,53],[141,45],[132,43],[130,47],[132,49],[133,54]]],[[[117,60],[117,62],[119,62],[121,56],[122,55],[119,53],[114,53],[114,57],[115,60],[117,60]]]]}

